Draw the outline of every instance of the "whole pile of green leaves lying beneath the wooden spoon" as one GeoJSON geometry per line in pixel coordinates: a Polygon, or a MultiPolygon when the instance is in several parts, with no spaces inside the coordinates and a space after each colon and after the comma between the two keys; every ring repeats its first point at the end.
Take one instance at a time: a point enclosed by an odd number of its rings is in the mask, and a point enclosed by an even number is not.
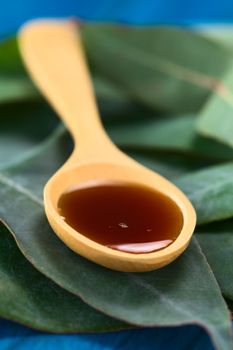
{"type": "Polygon", "coordinates": [[[30,82],[16,41],[0,46],[0,316],[51,332],[197,324],[232,347],[233,50],[176,28],[86,24],[107,132],[190,198],[198,226],[175,262],[121,273],[68,249],[42,191],[72,140],[30,82]],[[214,223],[213,223],[214,222],[214,223]]]}

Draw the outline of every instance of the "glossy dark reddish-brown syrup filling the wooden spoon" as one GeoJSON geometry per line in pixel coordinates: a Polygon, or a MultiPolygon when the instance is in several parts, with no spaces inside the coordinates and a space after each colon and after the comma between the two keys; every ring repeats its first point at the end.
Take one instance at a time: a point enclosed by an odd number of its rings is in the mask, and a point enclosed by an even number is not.
{"type": "Polygon", "coordinates": [[[183,226],[180,208],[149,187],[99,183],[65,192],[58,209],[65,222],[87,238],[129,253],[170,245],[183,226]]]}

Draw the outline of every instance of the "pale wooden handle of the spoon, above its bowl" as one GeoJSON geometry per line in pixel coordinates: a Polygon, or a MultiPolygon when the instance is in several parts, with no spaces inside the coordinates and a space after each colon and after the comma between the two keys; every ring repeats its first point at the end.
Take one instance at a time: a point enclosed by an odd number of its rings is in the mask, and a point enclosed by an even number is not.
{"type": "Polygon", "coordinates": [[[100,121],[77,24],[32,21],[18,38],[32,79],[78,142],[79,151],[113,146],[100,121]]]}

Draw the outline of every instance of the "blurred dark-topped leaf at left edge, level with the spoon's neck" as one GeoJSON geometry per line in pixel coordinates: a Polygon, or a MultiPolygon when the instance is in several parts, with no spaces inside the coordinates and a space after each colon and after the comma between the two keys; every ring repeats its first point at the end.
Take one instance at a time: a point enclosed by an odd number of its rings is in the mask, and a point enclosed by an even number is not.
{"type": "Polygon", "coordinates": [[[0,169],[27,157],[57,124],[52,110],[41,102],[1,106],[0,169]]]}

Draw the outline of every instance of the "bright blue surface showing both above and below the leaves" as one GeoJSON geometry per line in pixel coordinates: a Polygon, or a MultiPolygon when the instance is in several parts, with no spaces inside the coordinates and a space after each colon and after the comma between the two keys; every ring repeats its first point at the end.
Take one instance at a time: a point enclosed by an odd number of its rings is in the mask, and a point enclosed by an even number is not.
{"type": "MultiPolygon", "coordinates": [[[[15,33],[36,17],[76,16],[136,24],[233,23],[232,0],[7,0],[1,2],[0,37],[15,33]]],[[[0,349],[154,349],[212,350],[196,326],[122,331],[108,334],[51,335],[0,319],[0,349]]]]}

